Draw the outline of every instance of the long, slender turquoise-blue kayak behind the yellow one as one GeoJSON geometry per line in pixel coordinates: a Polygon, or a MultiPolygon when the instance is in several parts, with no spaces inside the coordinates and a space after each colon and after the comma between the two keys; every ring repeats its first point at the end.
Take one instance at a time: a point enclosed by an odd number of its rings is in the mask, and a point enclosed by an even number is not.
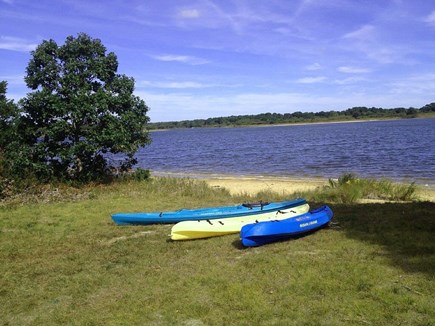
{"type": "Polygon", "coordinates": [[[113,214],[112,219],[116,224],[166,224],[178,223],[182,221],[200,221],[221,219],[230,217],[242,217],[251,215],[261,215],[292,207],[305,205],[303,198],[294,200],[268,203],[247,203],[235,206],[210,207],[199,209],[180,209],[174,212],[154,212],[154,213],[118,213],[113,214]]]}

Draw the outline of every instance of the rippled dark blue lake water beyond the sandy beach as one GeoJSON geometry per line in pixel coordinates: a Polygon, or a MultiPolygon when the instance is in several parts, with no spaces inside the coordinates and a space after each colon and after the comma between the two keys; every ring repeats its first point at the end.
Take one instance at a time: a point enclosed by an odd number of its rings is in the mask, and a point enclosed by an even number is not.
{"type": "Polygon", "coordinates": [[[198,128],[151,133],[137,153],[153,172],[337,178],[435,184],[435,119],[198,128]]]}

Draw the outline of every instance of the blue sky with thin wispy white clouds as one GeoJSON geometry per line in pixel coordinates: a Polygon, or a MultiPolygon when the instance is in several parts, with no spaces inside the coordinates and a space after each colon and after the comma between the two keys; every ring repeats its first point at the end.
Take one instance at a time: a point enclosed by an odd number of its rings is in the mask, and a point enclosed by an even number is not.
{"type": "Polygon", "coordinates": [[[429,0],[0,0],[0,80],[84,32],[133,77],[152,122],[435,102],[429,0]]]}

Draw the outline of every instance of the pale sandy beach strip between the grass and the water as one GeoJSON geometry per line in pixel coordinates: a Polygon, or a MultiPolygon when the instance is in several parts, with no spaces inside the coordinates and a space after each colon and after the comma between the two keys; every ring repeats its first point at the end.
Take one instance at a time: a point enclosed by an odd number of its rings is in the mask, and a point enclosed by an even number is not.
{"type": "MultiPolygon", "coordinates": [[[[276,176],[236,176],[220,174],[156,173],[170,177],[186,177],[205,181],[210,187],[226,188],[233,194],[255,195],[260,191],[274,191],[280,194],[293,194],[310,191],[328,184],[321,177],[276,177],[276,176]]],[[[421,200],[435,202],[435,185],[417,185],[417,196],[421,200]]]]}

